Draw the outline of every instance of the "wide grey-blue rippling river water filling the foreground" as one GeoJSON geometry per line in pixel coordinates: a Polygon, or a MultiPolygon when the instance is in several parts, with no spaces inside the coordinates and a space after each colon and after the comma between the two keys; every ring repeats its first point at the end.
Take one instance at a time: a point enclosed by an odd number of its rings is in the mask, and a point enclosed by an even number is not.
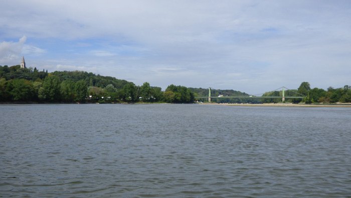
{"type": "Polygon", "coordinates": [[[351,196],[351,108],[0,106],[0,196],[351,196]]]}

